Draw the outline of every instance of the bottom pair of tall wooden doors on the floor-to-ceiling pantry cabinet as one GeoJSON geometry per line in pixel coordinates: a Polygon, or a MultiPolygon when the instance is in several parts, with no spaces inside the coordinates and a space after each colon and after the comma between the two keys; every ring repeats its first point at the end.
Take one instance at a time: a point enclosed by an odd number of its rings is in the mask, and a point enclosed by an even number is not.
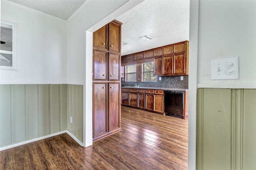
{"type": "Polygon", "coordinates": [[[93,83],[93,141],[121,130],[120,83],[93,83]]]}

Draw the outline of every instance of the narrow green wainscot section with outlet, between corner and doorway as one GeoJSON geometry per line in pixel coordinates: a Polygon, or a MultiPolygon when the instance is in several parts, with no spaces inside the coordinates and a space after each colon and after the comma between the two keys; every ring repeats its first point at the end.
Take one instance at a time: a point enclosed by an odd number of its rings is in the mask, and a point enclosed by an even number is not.
{"type": "Polygon", "coordinates": [[[83,86],[68,84],[68,131],[83,142],[83,86]],[[72,123],[70,122],[72,117],[72,123]]]}

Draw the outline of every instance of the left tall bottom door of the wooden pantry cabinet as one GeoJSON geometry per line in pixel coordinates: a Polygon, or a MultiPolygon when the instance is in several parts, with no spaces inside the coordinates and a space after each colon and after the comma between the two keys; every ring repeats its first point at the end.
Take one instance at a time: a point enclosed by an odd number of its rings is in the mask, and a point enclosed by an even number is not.
{"type": "Polygon", "coordinates": [[[107,83],[93,83],[93,137],[108,132],[107,83]]]}

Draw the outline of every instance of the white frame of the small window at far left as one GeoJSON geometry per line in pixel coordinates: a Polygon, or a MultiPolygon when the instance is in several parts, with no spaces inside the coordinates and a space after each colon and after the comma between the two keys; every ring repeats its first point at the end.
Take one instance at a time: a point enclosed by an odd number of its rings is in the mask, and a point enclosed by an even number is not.
{"type": "Polygon", "coordinates": [[[12,51],[0,50],[0,53],[12,54],[12,66],[0,66],[0,70],[14,70],[18,71],[18,59],[17,59],[17,24],[6,21],[0,21],[1,27],[12,28],[12,51]],[[7,26],[8,25],[8,26],[7,26]]]}

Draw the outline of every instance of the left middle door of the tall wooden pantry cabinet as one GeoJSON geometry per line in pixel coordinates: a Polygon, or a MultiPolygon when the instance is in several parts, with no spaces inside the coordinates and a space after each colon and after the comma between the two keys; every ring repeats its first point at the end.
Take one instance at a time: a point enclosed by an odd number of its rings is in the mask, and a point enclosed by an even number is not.
{"type": "Polygon", "coordinates": [[[93,80],[107,80],[108,53],[94,50],[93,55],[93,80]]]}

